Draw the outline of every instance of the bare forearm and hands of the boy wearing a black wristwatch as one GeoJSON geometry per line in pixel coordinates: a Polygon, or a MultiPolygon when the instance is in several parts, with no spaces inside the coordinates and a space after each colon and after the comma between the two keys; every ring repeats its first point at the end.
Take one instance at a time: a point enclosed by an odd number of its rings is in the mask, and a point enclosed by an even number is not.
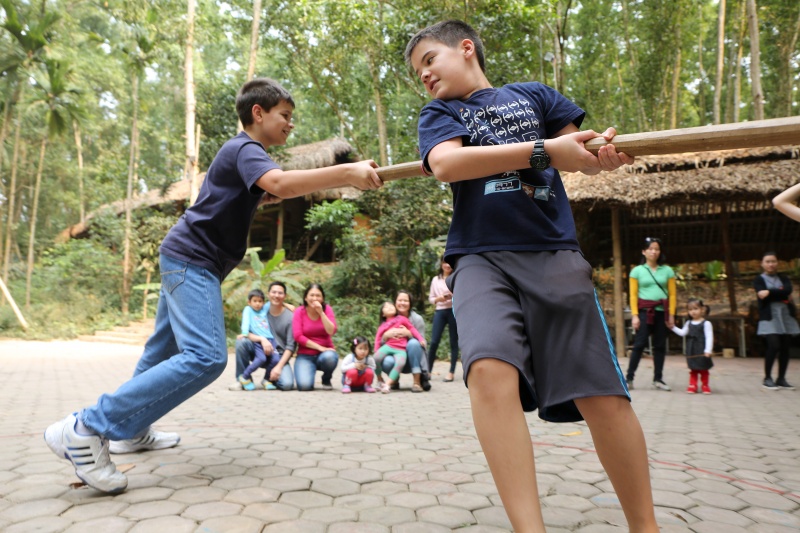
{"type": "MultiPolygon", "coordinates": [[[[614,128],[608,128],[600,135],[592,130],[580,131],[575,124],[569,124],[553,138],[544,141],[544,150],[550,156],[550,166],[557,170],[597,174],[601,170],[614,170],[633,163],[632,157],[617,153],[613,144],[600,148],[597,156],[583,146],[589,139],[601,136],[610,142],[616,134],[614,128]]],[[[531,141],[495,146],[464,146],[461,138],[457,137],[433,147],[428,154],[428,165],[436,179],[446,183],[485,178],[529,168],[533,144],[531,141]]]]}

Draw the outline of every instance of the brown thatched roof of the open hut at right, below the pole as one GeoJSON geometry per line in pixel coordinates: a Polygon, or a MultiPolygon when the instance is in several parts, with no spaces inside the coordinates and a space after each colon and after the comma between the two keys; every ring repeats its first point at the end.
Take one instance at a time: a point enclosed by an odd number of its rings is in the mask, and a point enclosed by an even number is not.
{"type": "Polygon", "coordinates": [[[799,147],[782,146],[648,156],[614,172],[562,178],[570,203],[583,209],[765,200],[800,182],[798,155],[799,147]]]}

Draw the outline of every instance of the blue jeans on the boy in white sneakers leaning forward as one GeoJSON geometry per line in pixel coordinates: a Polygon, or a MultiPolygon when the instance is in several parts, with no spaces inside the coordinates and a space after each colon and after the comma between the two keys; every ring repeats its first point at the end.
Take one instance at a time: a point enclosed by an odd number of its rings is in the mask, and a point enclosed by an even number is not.
{"type": "Polygon", "coordinates": [[[111,440],[144,434],[151,424],[217,379],[228,363],[220,279],[164,254],[155,331],[133,377],[80,413],[111,440]]]}

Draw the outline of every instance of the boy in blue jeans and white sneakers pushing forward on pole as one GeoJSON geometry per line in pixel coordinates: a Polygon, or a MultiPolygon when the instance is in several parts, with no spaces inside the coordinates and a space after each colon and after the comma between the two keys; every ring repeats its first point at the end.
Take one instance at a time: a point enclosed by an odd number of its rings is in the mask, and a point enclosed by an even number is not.
{"type": "Polygon", "coordinates": [[[155,431],[151,424],[225,369],[220,284],[244,257],[259,204],[345,185],[380,187],[373,161],[281,170],[266,149],[286,144],[294,129],[293,111],[291,95],[273,80],[260,78],[242,86],[236,112],[244,131],[217,153],[196,203],[161,243],[155,331],[133,378],[45,431],[50,449],[70,461],[87,485],[110,493],[125,490],[127,478],[111,462],[109,451],[177,445],[177,434],[155,431]]]}

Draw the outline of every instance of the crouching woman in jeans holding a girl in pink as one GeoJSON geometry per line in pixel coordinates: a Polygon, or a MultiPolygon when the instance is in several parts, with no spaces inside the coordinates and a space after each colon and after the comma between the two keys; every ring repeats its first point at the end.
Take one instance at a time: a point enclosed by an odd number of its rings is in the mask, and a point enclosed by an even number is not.
{"type": "MultiPolygon", "coordinates": [[[[411,293],[408,291],[397,291],[394,306],[397,308],[397,315],[406,317],[420,335],[422,335],[423,342],[419,342],[415,339],[408,328],[401,326],[387,329],[380,338],[381,344],[385,344],[389,339],[398,337],[405,337],[408,339],[408,344],[406,345],[408,359],[406,360],[405,366],[400,371],[403,374],[411,373],[414,377],[414,384],[411,386],[411,392],[428,391],[431,388],[430,381],[426,379],[429,376],[429,369],[427,368],[428,358],[425,357],[425,352],[423,350],[425,348],[425,319],[422,318],[419,313],[411,309],[411,293]]],[[[379,348],[380,346],[376,345],[375,351],[379,348]]],[[[384,372],[391,372],[393,366],[394,358],[391,355],[387,355],[383,359],[384,372]]],[[[394,389],[399,388],[399,386],[399,379],[392,384],[392,388],[394,389]]]]}

